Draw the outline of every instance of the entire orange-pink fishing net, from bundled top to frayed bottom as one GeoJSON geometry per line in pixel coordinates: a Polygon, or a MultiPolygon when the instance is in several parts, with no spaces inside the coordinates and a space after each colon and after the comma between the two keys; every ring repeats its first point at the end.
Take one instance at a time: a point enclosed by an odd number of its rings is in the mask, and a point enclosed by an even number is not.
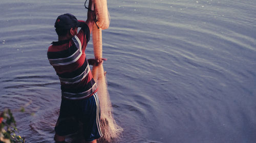
{"type": "MultiPolygon", "coordinates": [[[[110,25],[110,15],[106,0],[93,0],[90,1],[88,7],[86,2],[84,3],[90,11],[94,11],[96,17],[94,19],[95,24],[93,26],[93,48],[94,56],[96,60],[102,58],[102,30],[106,29],[110,25]]],[[[98,84],[98,97],[100,101],[100,128],[103,136],[99,141],[111,142],[113,139],[118,138],[123,129],[119,127],[112,115],[112,104],[108,92],[108,84],[102,65],[93,66],[92,70],[93,78],[98,84]]]]}

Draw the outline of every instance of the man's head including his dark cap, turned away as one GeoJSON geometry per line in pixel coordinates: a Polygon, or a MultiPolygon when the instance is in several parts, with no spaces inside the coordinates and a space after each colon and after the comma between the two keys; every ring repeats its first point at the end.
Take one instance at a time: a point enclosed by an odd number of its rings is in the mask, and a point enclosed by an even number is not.
{"type": "Polygon", "coordinates": [[[71,34],[72,36],[77,33],[77,27],[79,22],[76,17],[70,13],[59,15],[55,21],[54,27],[58,36],[66,36],[71,34]]]}

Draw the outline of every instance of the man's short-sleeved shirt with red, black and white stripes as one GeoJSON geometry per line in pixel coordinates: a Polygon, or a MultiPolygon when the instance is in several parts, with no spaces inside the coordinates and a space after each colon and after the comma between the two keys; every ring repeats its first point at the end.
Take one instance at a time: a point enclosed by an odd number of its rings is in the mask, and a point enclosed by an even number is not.
{"type": "Polygon", "coordinates": [[[59,77],[64,98],[88,98],[97,91],[84,52],[89,40],[89,27],[83,23],[77,35],[69,40],[52,42],[48,48],[48,60],[59,77]]]}

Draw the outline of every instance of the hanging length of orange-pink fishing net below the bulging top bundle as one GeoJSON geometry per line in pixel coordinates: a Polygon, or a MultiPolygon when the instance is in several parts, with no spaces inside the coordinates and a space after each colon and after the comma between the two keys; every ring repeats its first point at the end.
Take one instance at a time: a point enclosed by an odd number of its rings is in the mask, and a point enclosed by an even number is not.
{"type": "MultiPolygon", "coordinates": [[[[93,27],[93,47],[94,56],[96,60],[102,58],[102,30],[96,24],[93,27]]],[[[111,142],[113,139],[118,138],[122,132],[112,115],[112,104],[107,88],[106,77],[102,65],[93,66],[93,78],[98,84],[98,96],[100,101],[100,128],[103,134],[99,140],[111,142]]]]}

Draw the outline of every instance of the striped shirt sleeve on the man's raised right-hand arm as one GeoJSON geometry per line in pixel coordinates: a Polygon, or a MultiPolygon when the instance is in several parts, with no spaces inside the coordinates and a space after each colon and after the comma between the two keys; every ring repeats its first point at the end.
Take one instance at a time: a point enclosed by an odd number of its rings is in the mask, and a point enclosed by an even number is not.
{"type": "Polygon", "coordinates": [[[90,41],[90,29],[84,21],[78,20],[78,22],[81,30],[76,36],[79,38],[82,45],[82,51],[84,52],[84,50],[86,50],[88,42],[90,41]]]}

